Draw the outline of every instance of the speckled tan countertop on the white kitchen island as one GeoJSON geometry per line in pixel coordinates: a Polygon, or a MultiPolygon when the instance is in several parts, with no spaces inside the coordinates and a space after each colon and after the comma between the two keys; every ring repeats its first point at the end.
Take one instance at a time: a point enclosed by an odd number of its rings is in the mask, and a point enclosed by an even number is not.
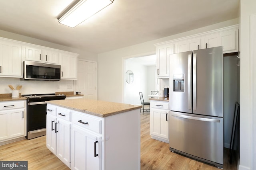
{"type": "Polygon", "coordinates": [[[70,99],[70,100],[52,100],[46,101],[48,104],[72,109],[82,113],[95,115],[98,117],[107,117],[134,109],[140,109],[142,106],[122,104],[115,102],[106,102],[101,100],[88,99],[70,99]]]}

